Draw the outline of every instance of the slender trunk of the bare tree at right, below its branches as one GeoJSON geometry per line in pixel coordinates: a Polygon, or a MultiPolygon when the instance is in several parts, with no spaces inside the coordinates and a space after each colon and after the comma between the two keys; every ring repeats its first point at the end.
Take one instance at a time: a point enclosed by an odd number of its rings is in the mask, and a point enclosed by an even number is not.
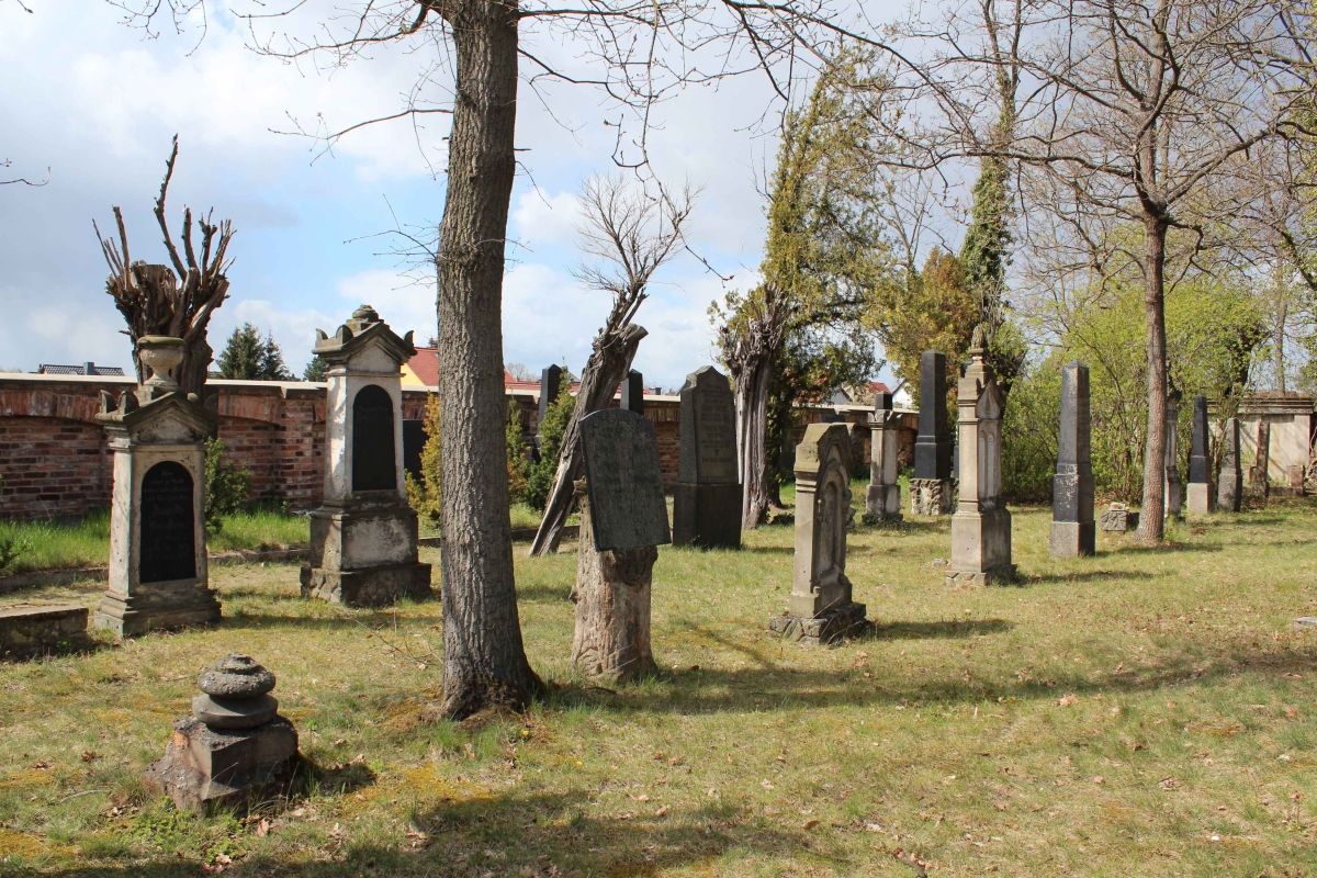
{"type": "Polygon", "coordinates": [[[1166,509],[1166,230],[1160,216],[1144,222],[1146,291],[1143,311],[1147,319],[1148,420],[1147,448],[1143,454],[1143,504],[1139,511],[1139,540],[1158,542],[1166,534],[1162,516],[1166,509]]]}

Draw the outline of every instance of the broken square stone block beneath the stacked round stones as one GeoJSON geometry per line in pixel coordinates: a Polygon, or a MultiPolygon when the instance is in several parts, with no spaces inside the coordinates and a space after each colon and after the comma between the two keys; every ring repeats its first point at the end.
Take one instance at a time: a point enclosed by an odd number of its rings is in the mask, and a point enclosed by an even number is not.
{"type": "Polygon", "coordinates": [[[174,723],[165,758],[146,769],[146,785],[180,811],[244,808],[287,791],[298,760],[298,733],[277,716],[244,731],[217,731],[196,717],[174,723]]]}

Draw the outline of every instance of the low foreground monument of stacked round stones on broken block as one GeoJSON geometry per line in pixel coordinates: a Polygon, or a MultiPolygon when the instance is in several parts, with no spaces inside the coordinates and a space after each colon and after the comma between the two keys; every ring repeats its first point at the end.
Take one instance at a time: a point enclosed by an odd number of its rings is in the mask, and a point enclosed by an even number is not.
{"type": "Polygon", "coordinates": [[[274,674],[250,656],[230,654],[202,674],[192,715],[174,723],[165,758],[146,785],[180,811],[245,808],[287,791],[298,733],[270,695],[274,674]]]}

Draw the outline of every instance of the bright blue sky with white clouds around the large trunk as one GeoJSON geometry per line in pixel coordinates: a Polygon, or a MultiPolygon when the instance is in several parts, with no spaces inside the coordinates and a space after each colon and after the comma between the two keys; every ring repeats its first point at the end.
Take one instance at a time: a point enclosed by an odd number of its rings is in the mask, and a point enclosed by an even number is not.
{"type": "MultiPolygon", "coordinates": [[[[386,47],[341,68],[288,65],[253,53],[224,5],[211,4],[204,38],[195,26],[149,38],[100,0],[0,0],[0,161],[11,162],[0,179],[45,180],[0,186],[0,307],[9,323],[0,369],[130,367],[92,220],[113,229],[111,205],[120,205],[133,258],[167,262],[151,209],[175,133],[175,229],[184,205],[194,213],[213,207],[237,229],[229,299],[209,329],[216,351],[252,323],[300,374],[315,330],[333,332],[362,303],[399,333],[415,330],[417,344],[435,334],[433,284],[408,272],[389,253],[402,242],[381,233],[440,220],[449,117],[425,116],[420,129],[406,120],[362,128],[329,153],[315,138],[279,133],[337,130],[396,112],[432,53],[386,47]]],[[[562,41],[532,45],[574,63],[562,41]]],[[[755,282],[774,112],[766,80],[740,76],[687,87],[653,120],[655,174],[699,188],[687,241],[716,274],[682,254],[656,276],[637,317],[649,336],[635,367],[648,386],[678,387],[715,362],[709,305],[755,282]]],[[[577,194],[589,176],[615,172],[615,129],[605,124],[615,115],[585,87],[558,87],[543,101],[522,87],[507,363],[537,374],[565,362],[579,371],[607,312],[607,296],[582,290],[572,269],[581,259],[577,194]]]]}

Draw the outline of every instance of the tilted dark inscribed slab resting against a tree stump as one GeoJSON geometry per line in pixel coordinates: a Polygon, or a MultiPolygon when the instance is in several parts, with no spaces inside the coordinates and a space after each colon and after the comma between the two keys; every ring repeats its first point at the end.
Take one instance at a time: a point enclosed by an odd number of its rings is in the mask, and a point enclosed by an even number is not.
{"type": "Polygon", "coordinates": [[[620,408],[591,412],[581,419],[581,445],[594,548],[672,542],[653,424],[620,408]]]}

